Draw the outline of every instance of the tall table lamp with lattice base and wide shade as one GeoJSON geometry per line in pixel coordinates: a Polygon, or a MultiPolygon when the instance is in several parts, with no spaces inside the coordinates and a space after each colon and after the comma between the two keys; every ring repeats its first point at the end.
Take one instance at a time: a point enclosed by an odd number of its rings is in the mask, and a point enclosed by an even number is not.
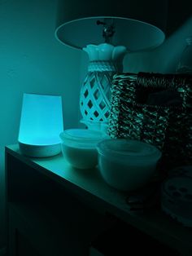
{"type": "Polygon", "coordinates": [[[89,55],[80,94],[81,122],[89,129],[107,130],[114,73],[123,71],[125,54],[164,42],[166,15],[166,0],[59,2],[55,37],[89,55]]]}

